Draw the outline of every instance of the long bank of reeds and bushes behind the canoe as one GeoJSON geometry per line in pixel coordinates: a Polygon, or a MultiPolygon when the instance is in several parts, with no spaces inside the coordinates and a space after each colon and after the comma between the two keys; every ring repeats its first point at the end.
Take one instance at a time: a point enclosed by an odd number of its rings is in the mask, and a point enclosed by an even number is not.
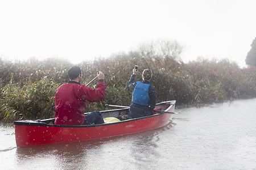
{"type": "MultiPolygon", "coordinates": [[[[113,109],[105,104],[131,103],[133,90],[127,87],[134,65],[139,65],[135,80],[142,80],[143,69],[151,69],[151,82],[156,89],[156,101],[176,100],[176,105],[222,103],[227,100],[256,97],[256,68],[241,69],[227,59],[201,59],[183,63],[181,47],[172,44],[165,50],[141,47],[137,51],[97,58],[78,64],[82,68],[83,84],[92,80],[97,71],[105,74],[106,98],[100,103],[88,103],[86,112],[113,109]],[[178,47],[178,48],[177,48],[178,47]]],[[[5,61],[0,58],[0,120],[44,119],[54,117],[52,106],[57,88],[68,82],[72,64],[57,58],[43,61],[5,61]]],[[[96,82],[89,87],[96,88],[96,82]]]]}

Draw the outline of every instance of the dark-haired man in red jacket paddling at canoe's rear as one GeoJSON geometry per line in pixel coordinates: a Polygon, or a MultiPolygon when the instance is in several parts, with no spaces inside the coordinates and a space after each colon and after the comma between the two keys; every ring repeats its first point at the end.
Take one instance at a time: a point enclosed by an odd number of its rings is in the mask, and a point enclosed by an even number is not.
{"type": "Polygon", "coordinates": [[[98,102],[105,99],[105,75],[99,71],[97,74],[97,89],[80,84],[82,80],[81,68],[73,66],[68,70],[69,82],[62,84],[56,92],[55,124],[56,125],[91,125],[104,124],[99,111],[85,116],[86,101],[98,102]]]}

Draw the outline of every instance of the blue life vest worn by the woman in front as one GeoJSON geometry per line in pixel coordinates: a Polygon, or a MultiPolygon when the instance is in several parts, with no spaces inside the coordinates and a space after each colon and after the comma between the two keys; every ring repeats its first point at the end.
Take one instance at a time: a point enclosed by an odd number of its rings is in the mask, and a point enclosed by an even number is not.
{"type": "Polygon", "coordinates": [[[148,88],[150,87],[151,83],[145,84],[142,82],[136,82],[136,86],[133,91],[133,97],[131,98],[131,101],[133,103],[139,104],[139,105],[150,105],[150,97],[148,95],[148,88]]]}

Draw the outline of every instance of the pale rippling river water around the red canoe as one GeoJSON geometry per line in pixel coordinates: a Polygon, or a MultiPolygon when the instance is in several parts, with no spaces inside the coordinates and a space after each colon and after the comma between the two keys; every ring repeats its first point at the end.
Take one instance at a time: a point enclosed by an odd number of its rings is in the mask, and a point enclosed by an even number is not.
{"type": "Polygon", "coordinates": [[[0,169],[256,169],[256,99],[176,109],[163,128],[17,148],[0,127],[0,169]]]}

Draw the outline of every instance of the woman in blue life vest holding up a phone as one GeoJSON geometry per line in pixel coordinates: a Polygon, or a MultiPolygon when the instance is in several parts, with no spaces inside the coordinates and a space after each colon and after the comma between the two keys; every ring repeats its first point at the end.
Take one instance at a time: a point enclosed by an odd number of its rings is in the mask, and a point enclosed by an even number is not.
{"type": "Polygon", "coordinates": [[[137,69],[133,69],[133,75],[131,75],[128,84],[130,88],[134,89],[129,112],[131,118],[151,115],[155,108],[155,88],[149,82],[152,78],[151,70],[143,70],[142,82],[134,82],[136,74],[137,69]]]}

